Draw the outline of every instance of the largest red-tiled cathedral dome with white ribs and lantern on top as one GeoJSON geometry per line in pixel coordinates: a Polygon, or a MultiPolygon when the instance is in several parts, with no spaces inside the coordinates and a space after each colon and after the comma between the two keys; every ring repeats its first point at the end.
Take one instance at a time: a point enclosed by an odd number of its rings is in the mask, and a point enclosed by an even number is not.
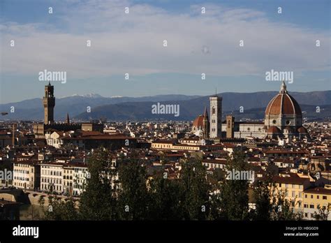
{"type": "Polygon", "coordinates": [[[283,82],[281,90],[274,96],[265,109],[265,115],[300,115],[300,105],[287,93],[286,85],[283,82]]]}

